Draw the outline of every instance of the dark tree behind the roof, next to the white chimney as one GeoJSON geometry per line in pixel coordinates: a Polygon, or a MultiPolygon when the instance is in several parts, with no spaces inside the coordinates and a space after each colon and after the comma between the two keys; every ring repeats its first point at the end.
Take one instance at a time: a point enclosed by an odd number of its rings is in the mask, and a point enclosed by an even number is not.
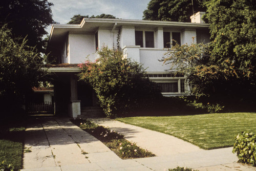
{"type": "MultiPolygon", "coordinates": [[[[194,0],[194,11],[206,11],[203,2],[207,0],[194,0]]],[[[172,22],[190,22],[193,15],[191,0],[151,0],[143,12],[145,20],[162,20],[172,22]]]]}

